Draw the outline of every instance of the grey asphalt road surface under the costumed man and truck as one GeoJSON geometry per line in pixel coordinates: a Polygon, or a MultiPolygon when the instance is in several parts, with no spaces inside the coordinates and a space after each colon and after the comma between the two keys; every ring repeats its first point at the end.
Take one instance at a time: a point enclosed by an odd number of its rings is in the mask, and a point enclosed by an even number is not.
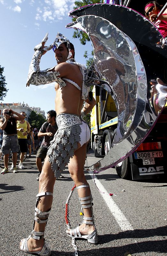
{"type": "MultiPolygon", "coordinates": [[[[98,158],[89,152],[87,165],[98,158]]],[[[0,255],[25,255],[19,242],[27,237],[34,222],[38,193],[35,156],[26,159],[25,170],[0,174],[0,255]]],[[[0,170],[1,171],[1,170],[0,170]]],[[[129,181],[120,179],[115,169],[97,174],[85,172],[94,199],[98,244],[77,240],[79,256],[165,256],[167,255],[167,183],[165,180],[129,181]],[[100,191],[99,191],[100,190],[100,191]],[[110,196],[109,194],[113,194],[110,196]]],[[[55,183],[52,211],[45,231],[52,255],[73,256],[71,238],[65,234],[65,203],[74,186],[66,167],[64,179],[55,183]]],[[[69,203],[72,228],[81,222],[80,203],[74,190],[69,203]]]]}

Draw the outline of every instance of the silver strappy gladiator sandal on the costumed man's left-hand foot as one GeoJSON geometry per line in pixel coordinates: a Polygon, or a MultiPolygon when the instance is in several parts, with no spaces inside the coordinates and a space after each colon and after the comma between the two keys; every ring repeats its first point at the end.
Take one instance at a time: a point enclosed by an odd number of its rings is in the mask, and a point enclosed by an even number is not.
{"type": "MultiPolygon", "coordinates": [[[[35,207],[34,226],[35,226],[35,221],[37,223],[46,223],[47,224],[49,213],[51,212],[51,208],[48,212],[41,212],[37,208],[37,202],[39,201],[41,196],[53,196],[53,193],[42,192],[42,193],[40,193],[36,196],[37,199],[36,199],[36,207],[35,207]],[[43,219],[45,219],[45,220],[43,220],[43,219]]],[[[45,241],[45,239],[44,239],[44,246],[43,246],[43,248],[40,252],[30,252],[29,249],[28,249],[28,245],[27,245],[27,241],[30,237],[32,237],[36,240],[43,239],[44,238],[44,231],[36,232],[33,228],[33,231],[31,232],[31,235],[29,235],[27,238],[24,238],[24,239],[21,240],[21,243],[22,243],[21,246],[20,246],[21,251],[23,251],[25,253],[29,253],[29,254],[40,255],[40,256],[49,256],[51,254],[50,245],[49,245],[48,242],[45,241]]]]}

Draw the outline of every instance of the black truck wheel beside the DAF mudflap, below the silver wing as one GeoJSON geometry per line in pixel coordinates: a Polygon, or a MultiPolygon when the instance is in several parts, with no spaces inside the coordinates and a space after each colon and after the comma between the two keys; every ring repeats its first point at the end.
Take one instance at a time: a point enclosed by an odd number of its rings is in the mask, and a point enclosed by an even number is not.
{"type": "Polygon", "coordinates": [[[121,163],[115,166],[118,176],[125,180],[132,180],[131,164],[129,162],[129,157],[125,158],[121,163]]]}

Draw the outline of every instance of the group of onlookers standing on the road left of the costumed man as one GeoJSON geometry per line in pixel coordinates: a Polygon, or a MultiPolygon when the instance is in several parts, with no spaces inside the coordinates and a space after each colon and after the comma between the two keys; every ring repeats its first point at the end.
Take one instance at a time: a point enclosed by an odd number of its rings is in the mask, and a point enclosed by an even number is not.
{"type": "MultiPolygon", "coordinates": [[[[47,112],[47,122],[42,125],[39,131],[37,128],[31,127],[29,122],[25,120],[25,112],[19,114],[5,108],[3,116],[0,119],[0,158],[4,157],[4,169],[1,171],[1,174],[9,171],[8,159],[10,150],[12,152],[10,170],[13,173],[17,173],[18,168],[26,169],[26,166],[23,165],[25,154],[29,153],[30,158],[33,150],[33,153],[36,155],[36,165],[39,171],[37,180],[39,180],[42,162],[46,157],[50,141],[57,132],[56,111],[50,110],[47,112]],[[19,165],[17,168],[17,154],[19,151],[19,165]]],[[[64,178],[64,176],[60,175],[59,178],[64,178]]]]}

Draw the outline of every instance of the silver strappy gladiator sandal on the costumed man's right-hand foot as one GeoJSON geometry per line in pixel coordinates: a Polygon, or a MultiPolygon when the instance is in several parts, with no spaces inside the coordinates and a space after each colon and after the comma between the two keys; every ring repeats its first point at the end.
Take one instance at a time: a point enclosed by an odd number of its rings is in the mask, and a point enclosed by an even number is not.
{"type": "MultiPolygon", "coordinates": [[[[77,190],[80,188],[89,188],[89,185],[81,185],[76,187],[77,190]]],[[[95,227],[95,223],[94,223],[94,215],[93,215],[93,199],[92,199],[92,195],[90,193],[89,196],[86,197],[79,197],[80,199],[80,204],[81,204],[81,212],[84,215],[83,209],[84,208],[91,208],[91,212],[92,212],[92,217],[83,217],[83,223],[88,224],[88,225],[94,225],[95,227]],[[88,205],[86,205],[88,204],[88,205]],[[89,220],[89,221],[88,221],[89,220]]],[[[79,224],[80,226],[80,224],[79,224]]],[[[80,234],[80,230],[79,230],[79,226],[77,228],[74,229],[70,229],[70,234],[67,233],[68,236],[72,237],[72,238],[80,238],[80,239],[87,239],[87,241],[91,244],[97,244],[98,243],[98,235],[97,235],[97,229],[95,227],[95,230],[89,234],[89,235],[81,235],[80,234]],[[72,235],[72,233],[74,234],[74,236],[72,235]]]]}

